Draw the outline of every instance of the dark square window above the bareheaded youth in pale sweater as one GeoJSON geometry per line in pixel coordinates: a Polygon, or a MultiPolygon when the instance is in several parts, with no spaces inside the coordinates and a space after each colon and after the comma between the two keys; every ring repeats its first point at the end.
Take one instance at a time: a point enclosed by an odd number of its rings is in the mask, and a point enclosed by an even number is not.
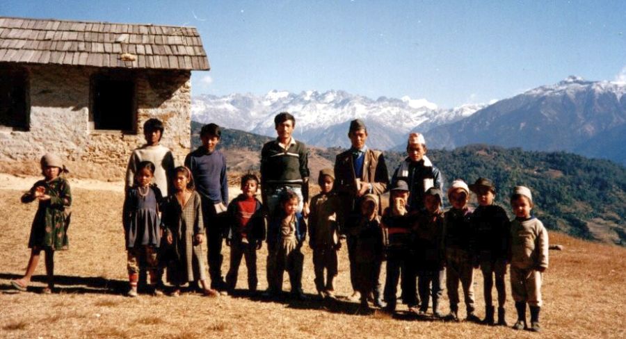
{"type": "Polygon", "coordinates": [[[135,130],[135,83],[128,78],[92,79],[91,115],[94,129],[135,130]]]}

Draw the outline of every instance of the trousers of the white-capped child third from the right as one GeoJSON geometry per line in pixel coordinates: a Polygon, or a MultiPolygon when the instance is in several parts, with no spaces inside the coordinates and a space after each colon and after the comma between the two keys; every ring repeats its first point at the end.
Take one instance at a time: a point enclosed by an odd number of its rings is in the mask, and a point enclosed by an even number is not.
{"type": "Polygon", "coordinates": [[[460,249],[446,250],[446,288],[450,310],[458,311],[458,283],[463,287],[467,314],[474,313],[474,267],[470,254],[460,249]]]}

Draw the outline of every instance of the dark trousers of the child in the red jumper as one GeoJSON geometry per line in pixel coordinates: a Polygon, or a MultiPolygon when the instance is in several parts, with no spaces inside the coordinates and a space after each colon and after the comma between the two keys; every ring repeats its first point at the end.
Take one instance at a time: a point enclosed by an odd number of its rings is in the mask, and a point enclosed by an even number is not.
{"type": "Polygon", "coordinates": [[[226,284],[228,288],[234,289],[237,285],[237,274],[241,258],[246,258],[248,268],[248,288],[251,291],[257,290],[257,246],[255,242],[242,243],[241,239],[233,240],[230,243],[230,269],[226,274],[226,284]]]}

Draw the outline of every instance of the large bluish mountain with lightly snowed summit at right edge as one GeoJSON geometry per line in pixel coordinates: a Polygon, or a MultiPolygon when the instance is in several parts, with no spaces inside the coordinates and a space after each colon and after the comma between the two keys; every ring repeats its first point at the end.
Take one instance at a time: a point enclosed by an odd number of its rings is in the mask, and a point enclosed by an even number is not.
{"type": "Polygon", "coordinates": [[[570,76],[475,112],[425,134],[429,147],[485,143],[571,151],[626,164],[626,83],[570,76]]]}

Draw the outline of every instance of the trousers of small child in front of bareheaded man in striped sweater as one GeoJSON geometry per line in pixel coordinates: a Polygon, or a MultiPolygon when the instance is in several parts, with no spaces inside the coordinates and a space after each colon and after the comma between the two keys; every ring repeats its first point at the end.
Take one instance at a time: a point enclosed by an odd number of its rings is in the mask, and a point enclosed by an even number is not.
{"type": "Polygon", "coordinates": [[[268,276],[272,277],[270,290],[274,292],[282,290],[282,276],[284,271],[287,271],[291,282],[291,292],[302,292],[303,264],[304,255],[296,239],[281,239],[268,255],[268,276]]]}

